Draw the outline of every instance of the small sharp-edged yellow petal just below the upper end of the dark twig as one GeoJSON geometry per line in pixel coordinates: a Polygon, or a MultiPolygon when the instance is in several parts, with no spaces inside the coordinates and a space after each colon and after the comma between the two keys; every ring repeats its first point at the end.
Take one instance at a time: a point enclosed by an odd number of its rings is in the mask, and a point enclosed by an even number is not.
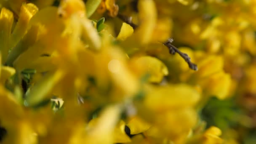
{"type": "Polygon", "coordinates": [[[127,37],[133,34],[133,27],[123,22],[120,32],[117,36],[117,40],[125,40],[127,37]]]}

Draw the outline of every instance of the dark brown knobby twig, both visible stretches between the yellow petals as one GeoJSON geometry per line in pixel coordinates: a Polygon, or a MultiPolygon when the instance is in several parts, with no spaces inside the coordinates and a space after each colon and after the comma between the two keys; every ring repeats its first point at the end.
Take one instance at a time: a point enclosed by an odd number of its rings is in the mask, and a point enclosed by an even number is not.
{"type": "MultiPolygon", "coordinates": [[[[138,27],[136,24],[133,24],[131,16],[123,16],[118,14],[117,17],[122,21],[124,21],[125,23],[131,25],[133,29],[136,29],[138,27]]],[[[191,62],[190,57],[187,55],[187,53],[182,53],[178,48],[176,48],[174,45],[171,44],[172,42],[173,42],[173,39],[169,38],[165,43],[163,43],[169,49],[169,53],[171,54],[178,53],[187,62],[190,69],[197,70],[197,65],[191,62]]]]}

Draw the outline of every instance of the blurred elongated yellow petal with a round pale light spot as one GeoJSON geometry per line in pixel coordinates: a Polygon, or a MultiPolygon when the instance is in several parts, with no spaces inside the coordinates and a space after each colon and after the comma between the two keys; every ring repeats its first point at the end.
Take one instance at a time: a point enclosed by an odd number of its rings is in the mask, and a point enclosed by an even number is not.
{"type": "MultiPolygon", "coordinates": [[[[98,63],[99,70],[103,70],[102,64],[107,66],[107,74],[109,74],[112,83],[115,85],[115,87],[118,88],[124,96],[134,96],[134,94],[139,89],[139,81],[138,79],[136,79],[136,76],[133,74],[131,69],[129,69],[125,53],[120,51],[120,49],[118,48],[110,47],[106,50],[107,51],[102,51],[102,53],[106,53],[107,55],[102,54],[96,58],[101,59],[101,61],[99,61],[98,63]]],[[[99,72],[99,76],[102,80],[107,79],[107,77],[104,76],[106,75],[106,73],[104,73],[99,72]]]]}

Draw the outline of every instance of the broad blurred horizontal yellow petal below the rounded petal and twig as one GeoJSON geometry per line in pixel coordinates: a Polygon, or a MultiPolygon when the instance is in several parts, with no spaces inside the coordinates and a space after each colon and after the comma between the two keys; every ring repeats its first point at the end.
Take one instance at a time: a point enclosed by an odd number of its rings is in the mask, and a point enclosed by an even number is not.
{"type": "Polygon", "coordinates": [[[195,88],[185,84],[160,86],[148,92],[144,104],[157,112],[179,107],[192,107],[200,99],[195,88]]]}

